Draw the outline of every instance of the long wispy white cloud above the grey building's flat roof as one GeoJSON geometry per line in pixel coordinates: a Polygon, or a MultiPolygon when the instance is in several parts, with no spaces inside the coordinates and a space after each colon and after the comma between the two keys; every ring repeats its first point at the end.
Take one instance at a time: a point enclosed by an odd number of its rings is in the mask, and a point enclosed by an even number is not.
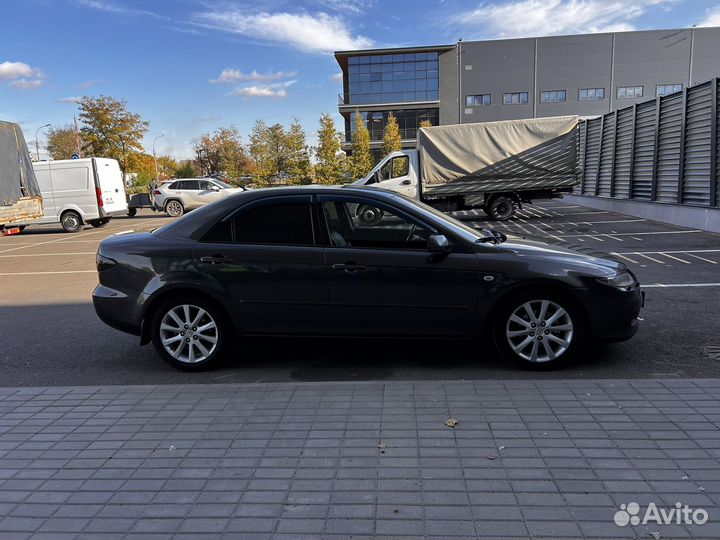
{"type": "Polygon", "coordinates": [[[675,0],[510,0],[481,3],[451,22],[475,37],[532,37],[632,30],[648,8],[675,0]],[[477,35],[479,32],[479,35],[477,35]]]}

